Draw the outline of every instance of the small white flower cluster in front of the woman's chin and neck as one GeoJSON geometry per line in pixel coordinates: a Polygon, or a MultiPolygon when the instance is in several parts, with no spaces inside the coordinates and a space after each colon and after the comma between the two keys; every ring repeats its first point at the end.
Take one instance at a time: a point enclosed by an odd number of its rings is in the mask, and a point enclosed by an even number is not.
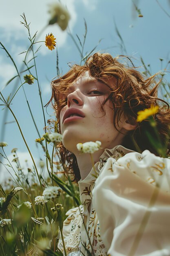
{"type": "Polygon", "coordinates": [[[79,151],[82,151],[82,153],[95,153],[95,151],[99,150],[100,146],[101,146],[101,141],[88,141],[85,143],[78,143],[77,144],[77,149],[79,151]]]}

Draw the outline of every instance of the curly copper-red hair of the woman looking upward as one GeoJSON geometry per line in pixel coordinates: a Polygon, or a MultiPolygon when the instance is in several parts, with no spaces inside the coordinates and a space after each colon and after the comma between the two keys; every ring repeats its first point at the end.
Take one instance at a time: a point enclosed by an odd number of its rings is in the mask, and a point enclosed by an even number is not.
{"type": "MultiPolygon", "coordinates": [[[[60,111],[66,104],[64,91],[67,87],[77,79],[84,71],[89,71],[91,76],[96,79],[109,79],[116,78],[116,88],[110,87],[110,94],[108,98],[102,103],[101,109],[105,111],[103,106],[108,99],[113,103],[113,124],[118,124],[121,114],[124,113],[125,117],[131,124],[136,124],[136,129],[128,131],[124,136],[121,143],[122,146],[132,150],[140,151],[150,150],[150,152],[158,155],[150,141],[146,137],[146,130],[152,132],[148,121],[144,120],[141,123],[136,121],[137,112],[150,108],[151,105],[159,106],[159,111],[154,115],[157,121],[157,129],[161,141],[167,146],[167,154],[170,151],[169,138],[169,125],[170,125],[170,108],[169,104],[163,99],[157,97],[157,88],[160,84],[156,82],[156,75],[144,78],[144,76],[136,70],[134,65],[128,67],[118,61],[119,57],[113,58],[110,54],[95,53],[89,57],[83,66],[73,65],[64,76],[52,81],[52,96],[49,101],[52,102],[57,117],[57,132],[60,130],[60,111]],[[54,103],[53,103],[54,100],[54,103]]],[[[47,104],[49,104],[47,103],[47,104]]],[[[117,129],[117,127],[115,126],[117,129]]],[[[62,142],[57,146],[60,148],[60,155],[62,162],[64,162],[69,171],[75,175],[75,180],[80,179],[79,167],[75,155],[64,148],[62,142]]]]}

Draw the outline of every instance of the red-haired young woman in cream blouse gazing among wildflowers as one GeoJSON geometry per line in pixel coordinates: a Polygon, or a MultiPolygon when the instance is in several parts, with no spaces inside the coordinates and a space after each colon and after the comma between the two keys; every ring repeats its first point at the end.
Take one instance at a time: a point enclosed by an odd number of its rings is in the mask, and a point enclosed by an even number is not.
{"type": "Polygon", "coordinates": [[[153,118],[168,154],[170,110],[157,98],[158,85],[155,76],[145,79],[134,66],[100,53],[52,82],[60,154],[82,202],[64,221],[69,256],[90,255],[87,249],[95,256],[170,255],[170,159],[148,139],[146,131],[158,145],[150,122],[137,122],[139,111],[159,106],[153,118]],[[102,143],[95,168],[91,155],[77,149],[88,141],[102,143]]]}

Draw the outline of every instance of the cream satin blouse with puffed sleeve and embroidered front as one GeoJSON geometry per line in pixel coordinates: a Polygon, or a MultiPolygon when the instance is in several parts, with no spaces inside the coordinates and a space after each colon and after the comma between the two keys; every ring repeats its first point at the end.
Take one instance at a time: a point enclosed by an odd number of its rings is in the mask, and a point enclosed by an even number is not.
{"type": "Polygon", "coordinates": [[[92,168],[78,182],[82,205],[66,213],[67,255],[170,256],[170,159],[119,145],[99,160],[99,177],[92,168]]]}

